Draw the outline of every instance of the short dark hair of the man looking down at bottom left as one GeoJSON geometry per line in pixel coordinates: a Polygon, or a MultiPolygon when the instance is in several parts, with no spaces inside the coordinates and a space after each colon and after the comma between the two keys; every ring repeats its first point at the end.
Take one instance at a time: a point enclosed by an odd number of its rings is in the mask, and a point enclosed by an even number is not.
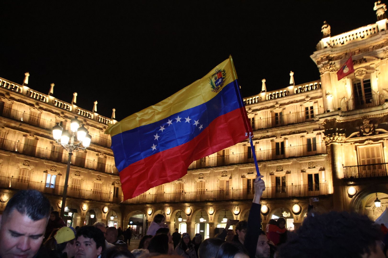
{"type": "MultiPolygon", "coordinates": [[[[50,201],[36,190],[20,190],[15,193],[7,203],[3,211],[3,218],[8,216],[14,209],[21,214],[27,215],[31,220],[41,220],[50,217],[50,201]]],[[[2,219],[2,222],[5,220],[2,219]]]]}

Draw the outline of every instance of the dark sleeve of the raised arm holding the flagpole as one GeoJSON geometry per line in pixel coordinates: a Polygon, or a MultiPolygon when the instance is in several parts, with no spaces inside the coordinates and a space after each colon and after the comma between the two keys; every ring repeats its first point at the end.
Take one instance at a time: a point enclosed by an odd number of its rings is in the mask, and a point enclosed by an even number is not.
{"type": "Polygon", "coordinates": [[[262,219],[260,215],[261,207],[261,204],[252,203],[251,210],[249,210],[244,246],[247,249],[250,258],[255,258],[257,241],[259,239],[260,231],[262,230],[262,219]]]}

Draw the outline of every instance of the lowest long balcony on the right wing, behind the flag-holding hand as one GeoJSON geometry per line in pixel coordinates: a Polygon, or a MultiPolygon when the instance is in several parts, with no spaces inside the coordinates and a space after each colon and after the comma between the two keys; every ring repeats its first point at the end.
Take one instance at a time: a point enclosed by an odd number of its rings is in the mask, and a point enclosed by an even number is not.
{"type": "MultiPolygon", "coordinates": [[[[262,199],[293,198],[327,195],[327,184],[315,185],[290,185],[266,187],[262,199]]],[[[125,203],[179,203],[179,202],[217,202],[217,201],[242,201],[252,200],[255,195],[253,189],[232,189],[216,191],[196,191],[182,193],[143,193],[135,198],[126,200],[125,203]]]]}

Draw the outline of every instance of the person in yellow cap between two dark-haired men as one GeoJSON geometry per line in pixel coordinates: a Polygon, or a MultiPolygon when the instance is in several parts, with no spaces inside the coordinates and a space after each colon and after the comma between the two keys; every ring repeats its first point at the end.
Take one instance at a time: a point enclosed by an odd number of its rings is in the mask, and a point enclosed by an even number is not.
{"type": "Polygon", "coordinates": [[[54,235],[55,257],[72,258],[75,255],[75,230],[72,227],[61,227],[54,235]]]}

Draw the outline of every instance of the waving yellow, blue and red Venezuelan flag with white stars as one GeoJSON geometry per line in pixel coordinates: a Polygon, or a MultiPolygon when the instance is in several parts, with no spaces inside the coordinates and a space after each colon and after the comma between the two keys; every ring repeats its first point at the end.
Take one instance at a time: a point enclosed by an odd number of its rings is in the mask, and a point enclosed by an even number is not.
{"type": "Polygon", "coordinates": [[[189,165],[252,132],[232,58],[167,99],[111,125],[124,198],[187,174],[189,165]]]}

